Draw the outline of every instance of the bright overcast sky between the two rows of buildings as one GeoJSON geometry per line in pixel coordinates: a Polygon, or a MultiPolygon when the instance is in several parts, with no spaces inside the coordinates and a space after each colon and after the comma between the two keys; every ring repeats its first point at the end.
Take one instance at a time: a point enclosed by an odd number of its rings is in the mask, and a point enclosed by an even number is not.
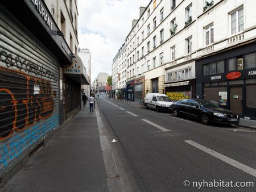
{"type": "Polygon", "coordinates": [[[112,74],[115,54],[139,18],[139,7],[150,0],[79,0],[79,47],[92,55],[92,81],[98,73],[112,74]]]}

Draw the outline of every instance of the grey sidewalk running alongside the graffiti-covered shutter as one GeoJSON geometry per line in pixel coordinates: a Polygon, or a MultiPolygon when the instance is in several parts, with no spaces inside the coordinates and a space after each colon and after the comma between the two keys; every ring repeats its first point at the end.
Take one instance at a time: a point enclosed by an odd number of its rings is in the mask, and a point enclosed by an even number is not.
{"type": "Polygon", "coordinates": [[[81,110],[1,191],[108,191],[96,111],[81,110]]]}

